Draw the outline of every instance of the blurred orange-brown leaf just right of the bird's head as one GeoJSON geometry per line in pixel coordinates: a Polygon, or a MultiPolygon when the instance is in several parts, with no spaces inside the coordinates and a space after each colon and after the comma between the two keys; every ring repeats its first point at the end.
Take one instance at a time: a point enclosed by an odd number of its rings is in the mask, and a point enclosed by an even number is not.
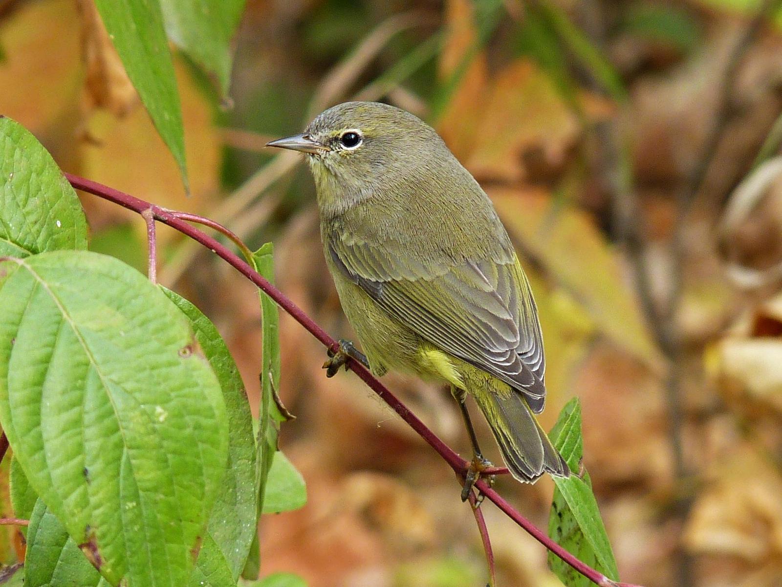
{"type": "Polygon", "coordinates": [[[524,170],[522,156],[540,149],[551,166],[559,166],[579,136],[576,115],[561,99],[551,79],[529,59],[518,59],[500,71],[480,108],[481,131],[472,134],[474,150],[467,167],[486,178],[516,180],[524,170]]]}

